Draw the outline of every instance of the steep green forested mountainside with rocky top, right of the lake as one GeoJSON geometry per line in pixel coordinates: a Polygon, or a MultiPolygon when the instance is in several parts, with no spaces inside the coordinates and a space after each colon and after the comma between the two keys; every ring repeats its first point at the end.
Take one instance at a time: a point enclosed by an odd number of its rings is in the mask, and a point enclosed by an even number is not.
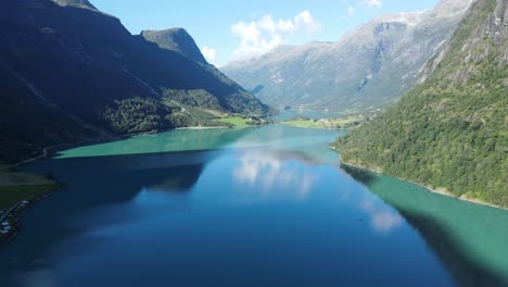
{"type": "Polygon", "coordinates": [[[335,146],[343,161],[508,208],[508,0],[478,0],[427,80],[335,146]]]}

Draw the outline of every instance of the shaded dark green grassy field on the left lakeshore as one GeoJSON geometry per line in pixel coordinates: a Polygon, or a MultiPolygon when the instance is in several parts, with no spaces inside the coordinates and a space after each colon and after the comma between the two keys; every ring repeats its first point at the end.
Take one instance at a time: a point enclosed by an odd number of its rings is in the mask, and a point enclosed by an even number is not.
{"type": "Polygon", "coordinates": [[[59,187],[56,182],[41,175],[0,172],[0,210],[8,210],[22,200],[38,198],[59,187]]]}

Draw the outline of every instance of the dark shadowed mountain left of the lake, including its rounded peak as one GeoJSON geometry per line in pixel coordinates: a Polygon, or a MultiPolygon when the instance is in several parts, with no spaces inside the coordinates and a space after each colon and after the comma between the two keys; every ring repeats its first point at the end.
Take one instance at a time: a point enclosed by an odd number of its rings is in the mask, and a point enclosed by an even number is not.
{"type": "Polygon", "coordinates": [[[206,63],[182,29],[161,35],[163,48],[86,0],[2,1],[0,160],[54,144],[206,125],[208,110],[269,110],[206,63]]]}

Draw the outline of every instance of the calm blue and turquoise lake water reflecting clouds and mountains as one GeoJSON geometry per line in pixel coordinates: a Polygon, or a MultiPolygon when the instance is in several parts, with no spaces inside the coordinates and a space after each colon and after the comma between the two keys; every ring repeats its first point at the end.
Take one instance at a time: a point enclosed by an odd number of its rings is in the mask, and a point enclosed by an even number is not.
{"type": "Polygon", "coordinates": [[[341,167],[340,130],[175,130],[26,167],[65,188],[0,286],[504,286],[508,212],[341,167]]]}

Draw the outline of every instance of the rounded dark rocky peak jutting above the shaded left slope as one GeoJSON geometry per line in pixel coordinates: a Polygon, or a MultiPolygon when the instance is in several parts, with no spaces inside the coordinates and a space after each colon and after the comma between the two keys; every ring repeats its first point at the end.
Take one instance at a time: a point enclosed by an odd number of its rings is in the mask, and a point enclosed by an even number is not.
{"type": "Polygon", "coordinates": [[[183,28],[143,30],[141,37],[158,45],[162,49],[176,51],[195,62],[206,63],[194,39],[183,28]]]}

